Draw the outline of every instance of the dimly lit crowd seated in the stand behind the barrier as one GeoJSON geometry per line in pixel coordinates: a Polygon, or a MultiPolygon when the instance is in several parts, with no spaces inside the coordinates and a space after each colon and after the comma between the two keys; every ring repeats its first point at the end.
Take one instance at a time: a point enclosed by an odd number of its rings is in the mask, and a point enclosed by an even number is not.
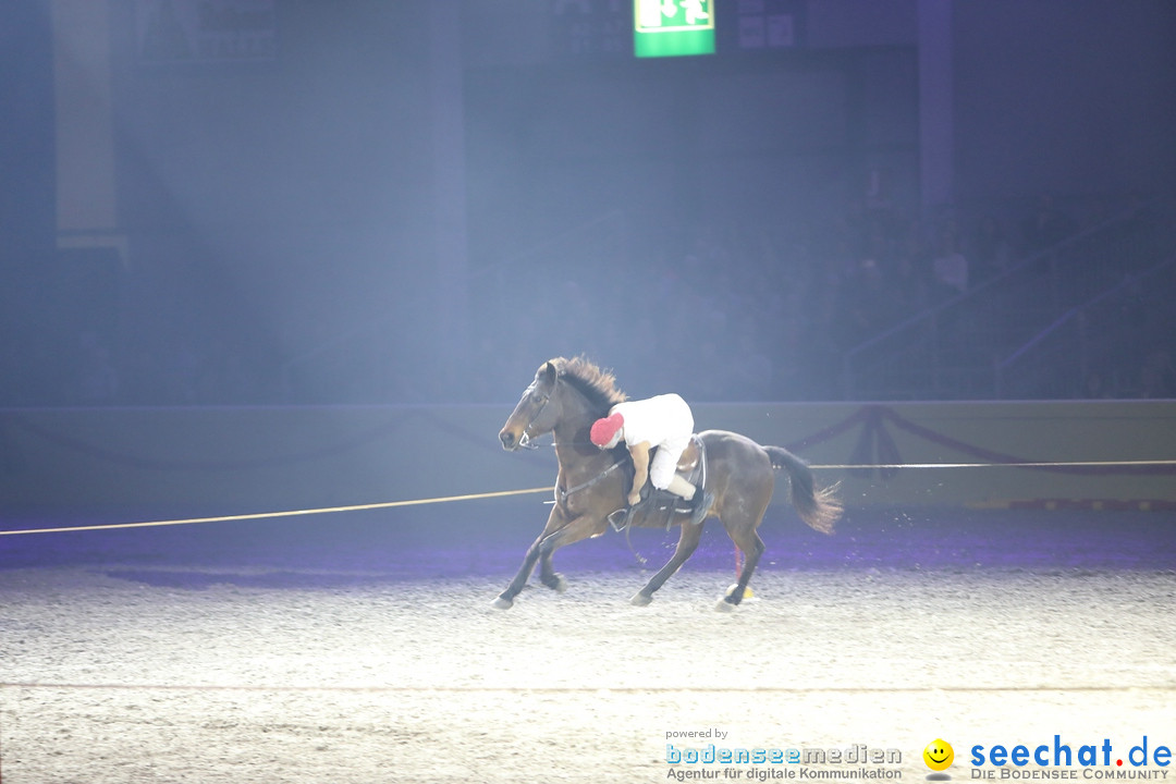
{"type": "MultiPolygon", "coordinates": [[[[338,402],[501,402],[517,395],[543,360],[581,353],[615,369],[632,396],[838,400],[847,350],[1082,227],[1048,197],[1022,217],[943,210],[923,219],[854,203],[831,225],[787,234],[711,223],[652,254],[530,261],[507,270],[528,280],[524,300],[493,282],[472,293],[467,361],[441,357],[434,368],[406,369],[394,361],[368,367],[360,355],[338,402]],[[432,382],[422,382],[422,370],[432,382]],[[413,384],[396,383],[406,371],[413,384]]],[[[1051,395],[1176,395],[1170,347],[1141,350],[1129,383],[1094,368],[1081,387],[1051,395]]],[[[172,360],[159,374],[160,400],[143,400],[142,391],[135,398],[111,347],[83,336],[76,402],[335,402],[329,387],[308,398],[289,378],[259,380],[233,355],[181,349],[172,360]]]]}

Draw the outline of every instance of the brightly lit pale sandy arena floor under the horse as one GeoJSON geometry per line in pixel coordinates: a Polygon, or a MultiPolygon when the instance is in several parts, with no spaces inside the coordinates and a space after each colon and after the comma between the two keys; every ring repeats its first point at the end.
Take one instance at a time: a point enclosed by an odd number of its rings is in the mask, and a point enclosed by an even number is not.
{"type": "MultiPolygon", "coordinates": [[[[929,518],[906,538],[890,520],[886,551],[873,544],[877,520],[847,521],[842,538],[818,545],[788,527],[769,548],[811,545],[807,561],[766,561],[755,599],[733,614],[713,609],[733,578],[721,535],[648,608],[628,604],[648,572],[617,536],[584,543],[579,558],[562,551],[568,591],[533,588],[509,611],[490,601],[526,547],[515,529],[475,537],[445,569],[422,565],[437,542],[392,557],[388,543],[356,536],[363,523],[336,530],[353,545],[334,550],[309,527],[298,545],[287,536],[265,550],[266,530],[228,548],[208,545],[207,528],[76,535],[36,556],[7,537],[0,776],[640,783],[691,770],[763,780],[799,766],[671,765],[667,744],[864,744],[901,762],[808,770],[909,782],[926,779],[922,750],[942,737],[962,780],[976,744],[1031,749],[1060,735],[1075,750],[1109,739],[1118,757],[1143,736],[1149,753],[1176,746],[1170,521],[1104,516],[1067,538],[1071,521],[1056,516],[1044,530],[1001,520],[988,530],[1030,528],[1058,545],[996,563],[980,545],[920,550],[929,518]],[[683,731],[711,735],[667,737],[683,731]]],[[[970,541],[974,522],[951,540],[970,541]]],[[[642,534],[639,550],[660,564],[666,535],[642,534]]]]}

